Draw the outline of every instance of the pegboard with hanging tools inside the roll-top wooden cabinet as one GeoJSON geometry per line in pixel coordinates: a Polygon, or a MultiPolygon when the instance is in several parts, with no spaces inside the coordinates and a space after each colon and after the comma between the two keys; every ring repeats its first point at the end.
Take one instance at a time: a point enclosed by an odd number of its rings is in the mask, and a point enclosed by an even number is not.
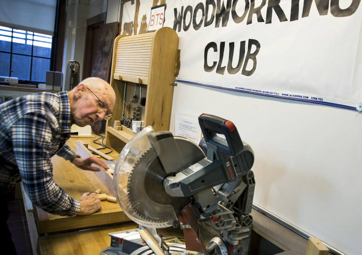
{"type": "MultiPolygon", "coordinates": [[[[140,100],[140,97],[139,97],[139,92],[140,92],[140,87],[139,87],[139,84],[138,83],[133,83],[133,82],[130,82],[130,81],[125,81],[125,84],[126,84],[126,97],[125,97],[125,101],[126,103],[128,104],[130,102],[130,99],[133,98],[133,95],[134,95],[134,92],[135,92],[135,85],[137,86],[137,89],[136,89],[136,95],[137,95],[137,102],[131,102],[129,105],[128,105],[128,110],[127,110],[127,106],[126,104],[124,104],[124,107],[125,107],[125,119],[130,117],[132,118],[132,109],[134,107],[137,107],[137,106],[140,106],[140,109],[141,109],[141,119],[140,120],[143,120],[144,121],[144,109],[146,106],[142,106],[139,104],[139,100],[140,100]]],[[[146,97],[147,95],[147,85],[143,85],[141,84],[142,86],[142,97],[146,97]]]]}

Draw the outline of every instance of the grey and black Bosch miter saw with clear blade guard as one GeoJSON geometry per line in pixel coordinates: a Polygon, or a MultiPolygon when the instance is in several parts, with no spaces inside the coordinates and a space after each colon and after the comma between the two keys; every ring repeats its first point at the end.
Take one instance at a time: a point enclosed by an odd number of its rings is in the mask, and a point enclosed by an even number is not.
{"type": "Polygon", "coordinates": [[[114,187],[122,210],[139,228],[109,233],[111,247],[101,255],[247,255],[253,150],[231,121],[209,114],[198,120],[204,136],[201,147],[148,126],[123,148],[114,187]],[[181,227],[184,242],[157,234],[156,229],[170,226],[181,227]],[[204,241],[202,227],[218,235],[204,241]]]}

